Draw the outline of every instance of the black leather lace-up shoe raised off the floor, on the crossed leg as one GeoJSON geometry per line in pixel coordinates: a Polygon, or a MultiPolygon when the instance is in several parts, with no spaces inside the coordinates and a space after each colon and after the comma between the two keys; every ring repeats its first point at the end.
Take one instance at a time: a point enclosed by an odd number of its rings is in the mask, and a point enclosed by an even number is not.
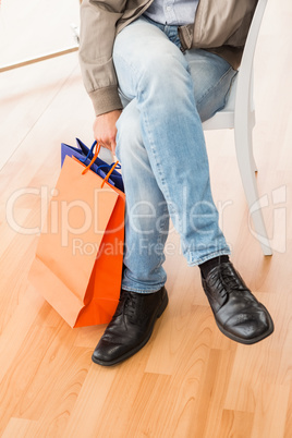
{"type": "Polygon", "coordinates": [[[209,300],[218,328],[233,341],[252,344],[273,331],[272,319],[230,261],[212,268],[207,278],[202,276],[204,291],[209,300]]]}

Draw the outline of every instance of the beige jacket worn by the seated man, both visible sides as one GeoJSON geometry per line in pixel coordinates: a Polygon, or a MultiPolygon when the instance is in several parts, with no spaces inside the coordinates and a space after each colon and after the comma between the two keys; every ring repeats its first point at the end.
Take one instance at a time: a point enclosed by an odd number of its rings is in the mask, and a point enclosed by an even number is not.
{"type": "MultiPolygon", "coordinates": [[[[142,15],[151,2],[82,2],[80,63],[96,115],[122,108],[112,62],[113,41],[115,35],[142,15]]],[[[257,0],[200,0],[195,22],[179,28],[182,48],[212,51],[238,69],[256,4],[257,0]]]]}

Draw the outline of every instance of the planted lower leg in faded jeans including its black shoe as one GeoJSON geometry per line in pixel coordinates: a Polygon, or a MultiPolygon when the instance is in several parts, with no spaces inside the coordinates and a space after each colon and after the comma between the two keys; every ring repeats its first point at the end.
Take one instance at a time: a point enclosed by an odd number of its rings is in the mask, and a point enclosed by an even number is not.
{"type": "Polygon", "coordinates": [[[135,100],[119,119],[117,156],[126,195],[124,271],[118,308],[93,354],[105,366],[141,350],[168,304],[162,263],[169,215],[143,145],[135,100]]]}

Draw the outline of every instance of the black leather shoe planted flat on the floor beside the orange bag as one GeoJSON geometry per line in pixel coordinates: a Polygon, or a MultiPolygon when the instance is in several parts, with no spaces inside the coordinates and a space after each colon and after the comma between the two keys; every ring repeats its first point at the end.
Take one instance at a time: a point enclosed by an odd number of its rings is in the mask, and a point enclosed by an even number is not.
{"type": "Polygon", "coordinates": [[[155,321],[167,305],[166,288],[149,294],[122,290],[115,314],[94,351],[93,362],[115,365],[139,351],[150,339],[155,321]]]}

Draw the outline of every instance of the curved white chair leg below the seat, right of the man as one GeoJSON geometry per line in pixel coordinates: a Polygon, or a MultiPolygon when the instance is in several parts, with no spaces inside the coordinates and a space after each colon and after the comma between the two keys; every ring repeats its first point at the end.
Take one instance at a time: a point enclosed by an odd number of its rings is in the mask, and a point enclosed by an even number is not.
{"type": "Polygon", "coordinates": [[[271,255],[272,251],[270,247],[266,226],[263,218],[256,185],[256,179],[255,179],[255,161],[253,158],[252,126],[248,123],[250,120],[246,113],[245,117],[241,117],[238,120],[239,122],[235,124],[234,127],[235,149],[236,149],[239,169],[241,172],[242,184],[250,207],[250,215],[254,223],[253,234],[260,243],[264,255],[271,255]]]}

